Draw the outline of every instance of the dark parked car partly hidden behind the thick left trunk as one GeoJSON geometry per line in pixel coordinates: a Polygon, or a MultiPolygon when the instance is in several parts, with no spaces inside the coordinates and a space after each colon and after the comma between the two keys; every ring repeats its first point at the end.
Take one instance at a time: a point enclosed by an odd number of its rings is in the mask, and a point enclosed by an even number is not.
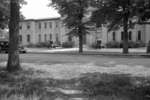
{"type": "MultiPolygon", "coordinates": [[[[8,41],[0,41],[0,52],[8,53],[8,41]]],[[[27,51],[23,46],[19,46],[19,52],[20,53],[26,53],[27,51]]]]}

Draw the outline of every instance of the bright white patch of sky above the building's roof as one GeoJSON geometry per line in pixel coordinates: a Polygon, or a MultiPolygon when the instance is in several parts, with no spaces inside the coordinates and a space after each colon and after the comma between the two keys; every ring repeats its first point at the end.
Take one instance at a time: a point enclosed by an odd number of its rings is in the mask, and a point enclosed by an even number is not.
{"type": "Polygon", "coordinates": [[[24,5],[21,8],[21,12],[26,19],[42,19],[60,16],[54,8],[47,6],[50,3],[50,0],[25,1],[27,2],[27,5],[24,5]]]}

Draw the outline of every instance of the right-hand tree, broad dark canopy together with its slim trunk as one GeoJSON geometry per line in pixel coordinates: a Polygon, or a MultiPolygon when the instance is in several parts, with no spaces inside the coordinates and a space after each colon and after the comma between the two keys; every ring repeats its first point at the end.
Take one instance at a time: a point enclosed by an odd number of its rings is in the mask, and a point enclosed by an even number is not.
{"type": "Polygon", "coordinates": [[[97,10],[93,12],[92,21],[101,26],[106,24],[109,31],[123,27],[123,53],[128,53],[128,29],[138,16],[137,4],[144,0],[95,0],[97,10]]]}

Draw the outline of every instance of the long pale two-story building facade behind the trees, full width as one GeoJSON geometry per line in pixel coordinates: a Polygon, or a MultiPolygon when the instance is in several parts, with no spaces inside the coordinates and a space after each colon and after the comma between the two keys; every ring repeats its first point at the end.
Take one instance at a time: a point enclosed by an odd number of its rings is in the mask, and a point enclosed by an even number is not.
{"type": "MultiPolygon", "coordinates": [[[[56,44],[62,44],[67,41],[73,41],[78,46],[78,38],[70,37],[67,33],[70,30],[63,24],[61,18],[51,19],[31,19],[20,22],[20,42],[22,45],[38,44],[53,41],[56,44]]],[[[129,41],[143,42],[145,44],[150,40],[150,24],[135,25],[129,29],[129,41]]],[[[84,44],[92,45],[101,41],[102,45],[108,42],[122,42],[123,29],[108,32],[105,26],[93,29],[90,34],[84,36],[84,44]]]]}

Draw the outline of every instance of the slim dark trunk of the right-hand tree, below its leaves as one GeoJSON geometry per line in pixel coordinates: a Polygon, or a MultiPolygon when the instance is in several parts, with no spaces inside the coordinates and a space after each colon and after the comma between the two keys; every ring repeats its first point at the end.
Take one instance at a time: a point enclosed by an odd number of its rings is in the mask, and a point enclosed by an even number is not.
{"type": "Polygon", "coordinates": [[[123,53],[128,54],[128,13],[123,18],[123,53]]]}

